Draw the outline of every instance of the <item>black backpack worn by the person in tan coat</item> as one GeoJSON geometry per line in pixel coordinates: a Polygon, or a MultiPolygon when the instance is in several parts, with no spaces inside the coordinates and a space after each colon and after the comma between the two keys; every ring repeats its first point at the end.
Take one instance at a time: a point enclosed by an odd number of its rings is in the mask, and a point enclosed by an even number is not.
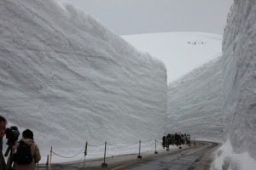
{"type": "Polygon", "coordinates": [[[13,160],[18,164],[30,164],[32,162],[31,146],[22,140],[19,142],[17,152],[13,155],[13,160]]]}

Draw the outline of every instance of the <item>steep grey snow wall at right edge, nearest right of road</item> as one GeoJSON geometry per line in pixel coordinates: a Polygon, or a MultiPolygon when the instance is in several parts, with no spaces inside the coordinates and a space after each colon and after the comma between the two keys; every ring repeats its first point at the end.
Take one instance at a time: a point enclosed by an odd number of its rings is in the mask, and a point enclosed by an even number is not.
{"type": "Polygon", "coordinates": [[[235,0],[224,30],[224,133],[256,157],[256,2],[235,0]]]}

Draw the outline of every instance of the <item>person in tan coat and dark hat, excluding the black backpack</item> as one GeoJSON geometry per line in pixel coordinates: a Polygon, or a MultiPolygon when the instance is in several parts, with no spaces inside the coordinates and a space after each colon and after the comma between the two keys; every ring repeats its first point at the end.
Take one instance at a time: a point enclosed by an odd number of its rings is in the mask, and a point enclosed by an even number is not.
{"type": "Polygon", "coordinates": [[[17,151],[19,144],[21,142],[23,142],[31,147],[32,162],[29,164],[19,164],[14,161],[15,170],[34,170],[36,168],[36,163],[38,163],[38,161],[41,160],[41,155],[40,155],[40,151],[38,149],[38,144],[36,144],[34,142],[33,137],[34,137],[34,135],[31,130],[26,129],[25,131],[23,131],[22,139],[20,139],[20,141],[17,142],[15,144],[15,146],[13,146],[13,150],[12,150],[13,155],[10,156],[10,154],[9,154],[8,161],[7,161],[7,167],[12,166],[12,157],[14,156],[15,152],[17,151]]]}

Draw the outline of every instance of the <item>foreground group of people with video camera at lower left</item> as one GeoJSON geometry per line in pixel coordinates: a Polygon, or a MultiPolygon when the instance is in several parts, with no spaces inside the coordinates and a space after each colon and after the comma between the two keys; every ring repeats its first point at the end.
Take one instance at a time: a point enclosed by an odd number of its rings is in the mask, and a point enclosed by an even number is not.
{"type": "Polygon", "coordinates": [[[32,131],[30,129],[24,130],[22,132],[22,139],[18,141],[20,135],[18,128],[7,128],[6,125],[6,119],[0,116],[0,170],[34,170],[36,163],[41,160],[41,155],[38,144],[33,139],[32,131]],[[9,144],[9,148],[4,155],[8,156],[7,162],[3,157],[4,135],[6,135],[8,139],[7,144],[9,144]]]}

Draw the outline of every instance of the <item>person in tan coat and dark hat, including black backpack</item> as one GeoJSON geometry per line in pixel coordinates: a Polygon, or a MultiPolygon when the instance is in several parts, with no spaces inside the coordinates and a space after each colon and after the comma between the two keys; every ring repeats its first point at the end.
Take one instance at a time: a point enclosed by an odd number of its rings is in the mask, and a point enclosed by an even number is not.
{"type": "Polygon", "coordinates": [[[33,133],[26,129],[22,133],[22,139],[13,146],[12,156],[8,157],[7,166],[14,162],[15,170],[34,170],[36,163],[41,160],[38,144],[33,140],[33,133]]]}

